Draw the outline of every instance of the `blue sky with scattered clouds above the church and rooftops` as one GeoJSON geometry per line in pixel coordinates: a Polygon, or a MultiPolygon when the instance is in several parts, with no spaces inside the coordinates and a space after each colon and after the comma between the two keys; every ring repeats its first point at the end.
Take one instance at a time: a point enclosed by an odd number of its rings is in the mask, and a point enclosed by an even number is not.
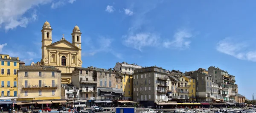
{"type": "Polygon", "coordinates": [[[220,67],[239,93],[256,93],[256,1],[247,0],[0,0],[0,53],[26,64],[41,60],[47,20],[53,42],[82,36],[83,67],[116,62],[167,70],[220,67]]]}

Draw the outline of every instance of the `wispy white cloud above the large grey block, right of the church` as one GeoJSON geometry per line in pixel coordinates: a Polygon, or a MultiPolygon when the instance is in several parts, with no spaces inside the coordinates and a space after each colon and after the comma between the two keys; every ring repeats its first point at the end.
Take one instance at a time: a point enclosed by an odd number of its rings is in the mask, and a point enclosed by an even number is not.
{"type": "Polygon", "coordinates": [[[123,41],[124,45],[131,46],[134,49],[142,51],[142,47],[144,46],[157,46],[158,39],[160,37],[153,33],[141,32],[135,35],[125,35],[123,36],[123,38],[125,38],[125,40],[123,41]]]}

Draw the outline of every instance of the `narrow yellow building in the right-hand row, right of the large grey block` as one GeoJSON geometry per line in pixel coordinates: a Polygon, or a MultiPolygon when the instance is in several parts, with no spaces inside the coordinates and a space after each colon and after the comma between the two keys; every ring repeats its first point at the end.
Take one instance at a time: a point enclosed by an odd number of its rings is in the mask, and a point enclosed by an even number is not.
{"type": "Polygon", "coordinates": [[[185,81],[187,81],[189,85],[189,101],[196,101],[195,79],[190,76],[183,76],[183,78],[185,78],[185,81]]]}

